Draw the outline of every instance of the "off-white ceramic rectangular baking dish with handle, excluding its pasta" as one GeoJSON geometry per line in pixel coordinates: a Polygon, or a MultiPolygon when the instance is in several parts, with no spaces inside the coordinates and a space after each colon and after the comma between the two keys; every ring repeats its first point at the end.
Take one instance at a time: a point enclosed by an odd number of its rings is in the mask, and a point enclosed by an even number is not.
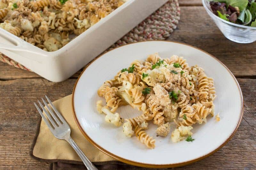
{"type": "Polygon", "coordinates": [[[60,82],[76,73],[167,1],[129,0],[54,52],[37,48],[0,28],[0,52],[40,76],[60,82]]]}

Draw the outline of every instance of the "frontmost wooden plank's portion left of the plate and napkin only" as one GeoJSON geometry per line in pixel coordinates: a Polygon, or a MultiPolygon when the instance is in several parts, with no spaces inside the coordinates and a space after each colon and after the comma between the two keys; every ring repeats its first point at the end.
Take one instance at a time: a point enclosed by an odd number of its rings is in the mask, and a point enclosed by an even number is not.
{"type": "Polygon", "coordinates": [[[42,78],[0,81],[0,169],[48,169],[29,156],[39,114],[33,102],[45,94],[57,100],[72,93],[76,79],[52,83],[42,78]]]}

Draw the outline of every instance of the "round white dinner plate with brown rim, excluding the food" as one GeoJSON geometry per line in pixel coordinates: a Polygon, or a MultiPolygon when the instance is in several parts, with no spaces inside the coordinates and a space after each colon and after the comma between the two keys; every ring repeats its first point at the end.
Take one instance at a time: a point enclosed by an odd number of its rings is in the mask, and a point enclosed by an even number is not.
{"type": "MultiPolygon", "coordinates": [[[[144,167],[183,166],[203,159],[218,151],[235,134],[243,115],[243,96],[238,82],[228,68],[214,56],[201,49],[171,41],[144,41],[115,48],[101,55],[82,72],[73,90],[72,107],[76,123],[84,136],[106,154],[122,162],[144,167]],[[134,60],[145,60],[158,52],[160,57],[184,56],[189,66],[199,65],[208,77],[214,79],[217,98],[215,114],[220,121],[208,116],[207,123],[194,125],[193,142],[172,143],[170,135],[156,137],[156,125],[149,124],[146,132],[156,139],[155,149],[148,149],[136,137],[128,138],[123,127],[114,127],[99,114],[96,101],[98,88],[116,73],[128,68],[134,60]]],[[[122,118],[141,113],[130,106],[117,110],[122,118]]],[[[174,126],[171,130],[174,129],[174,126]]]]}

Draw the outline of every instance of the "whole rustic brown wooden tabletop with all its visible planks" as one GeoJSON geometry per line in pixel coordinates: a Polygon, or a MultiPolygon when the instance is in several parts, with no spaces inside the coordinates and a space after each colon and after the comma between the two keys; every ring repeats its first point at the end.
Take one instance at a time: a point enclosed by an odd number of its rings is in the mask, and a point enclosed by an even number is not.
{"type": "MultiPolygon", "coordinates": [[[[236,76],[244,96],[244,116],[235,136],[208,158],[187,169],[256,169],[256,43],[227,40],[210,19],[201,0],[180,0],[181,18],[168,40],[184,42],[216,56],[236,76]]],[[[48,169],[29,156],[39,114],[33,102],[72,93],[79,73],[61,83],[0,62],[0,169],[48,169]]],[[[225,81],[225,80],[223,80],[225,81]]]]}

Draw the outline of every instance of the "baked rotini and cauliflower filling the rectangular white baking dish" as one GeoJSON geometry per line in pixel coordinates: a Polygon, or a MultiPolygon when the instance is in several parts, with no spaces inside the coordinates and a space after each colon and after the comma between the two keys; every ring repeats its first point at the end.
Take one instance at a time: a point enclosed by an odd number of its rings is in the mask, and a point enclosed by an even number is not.
{"type": "Polygon", "coordinates": [[[127,0],[0,0],[0,28],[45,51],[65,46],[127,0]]]}

